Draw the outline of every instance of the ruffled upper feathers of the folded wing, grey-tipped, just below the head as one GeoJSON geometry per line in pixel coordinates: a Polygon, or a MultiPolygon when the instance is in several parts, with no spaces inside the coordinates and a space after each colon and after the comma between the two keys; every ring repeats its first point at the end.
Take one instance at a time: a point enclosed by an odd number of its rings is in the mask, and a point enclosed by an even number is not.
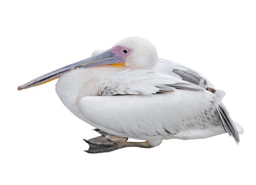
{"type": "Polygon", "coordinates": [[[123,70],[94,79],[94,96],[151,95],[175,89],[202,90],[179,78],[152,70],[123,70]]]}

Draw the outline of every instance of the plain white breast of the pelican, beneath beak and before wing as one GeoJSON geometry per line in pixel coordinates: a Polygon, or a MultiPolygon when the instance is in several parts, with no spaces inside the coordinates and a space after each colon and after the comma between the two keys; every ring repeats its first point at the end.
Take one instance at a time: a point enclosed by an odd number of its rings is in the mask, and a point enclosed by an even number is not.
{"type": "Polygon", "coordinates": [[[88,69],[76,69],[58,79],[56,92],[63,104],[77,117],[83,117],[78,103],[85,96],[93,96],[96,90],[95,79],[111,75],[126,68],[102,66],[88,69]]]}

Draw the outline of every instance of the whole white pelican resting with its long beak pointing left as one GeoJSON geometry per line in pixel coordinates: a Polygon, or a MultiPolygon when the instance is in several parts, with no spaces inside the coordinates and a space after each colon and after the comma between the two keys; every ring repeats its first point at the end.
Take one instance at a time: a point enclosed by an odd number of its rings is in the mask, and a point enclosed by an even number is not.
{"type": "Polygon", "coordinates": [[[223,133],[239,143],[243,132],[221,101],[223,90],[192,69],[158,58],[154,45],[143,38],[123,39],[109,50],[95,51],[92,57],[46,73],[18,90],[56,78],[63,104],[101,134],[84,140],[90,146],[88,153],[151,148],[171,138],[223,133]]]}

